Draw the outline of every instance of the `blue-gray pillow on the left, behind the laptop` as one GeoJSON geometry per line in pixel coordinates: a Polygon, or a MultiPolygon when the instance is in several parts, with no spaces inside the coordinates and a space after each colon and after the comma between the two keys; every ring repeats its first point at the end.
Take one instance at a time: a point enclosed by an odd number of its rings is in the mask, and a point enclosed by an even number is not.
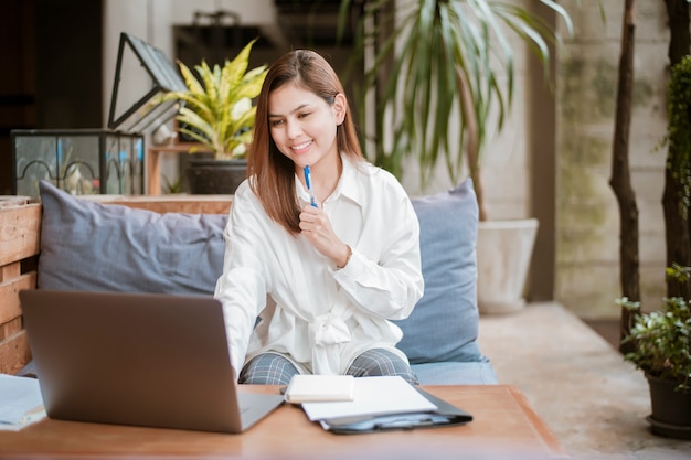
{"type": "Polygon", "coordinates": [[[226,215],[159,214],[40,183],[39,289],[212,295],[226,215]]]}

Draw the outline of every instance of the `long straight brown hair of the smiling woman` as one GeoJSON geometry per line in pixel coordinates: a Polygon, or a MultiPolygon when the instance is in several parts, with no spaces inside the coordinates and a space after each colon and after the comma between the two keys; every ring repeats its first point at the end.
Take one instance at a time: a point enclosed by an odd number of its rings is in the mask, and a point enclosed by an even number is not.
{"type": "MultiPolygon", "coordinates": [[[[300,232],[300,204],[295,190],[295,164],[278,150],[268,126],[268,96],[288,83],[316,94],[329,105],[333,104],[337,94],[346,93],[331,65],[321,55],[309,50],[295,50],[284,54],[269,67],[264,79],[257,100],[254,141],[247,157],[249,185],[266,214],[297,235],[300,232]]],[[[338,151],[350,160],[362,160],[355,126],[348,103],[346,104],[346,118],[336,133],[338,151]]]]}

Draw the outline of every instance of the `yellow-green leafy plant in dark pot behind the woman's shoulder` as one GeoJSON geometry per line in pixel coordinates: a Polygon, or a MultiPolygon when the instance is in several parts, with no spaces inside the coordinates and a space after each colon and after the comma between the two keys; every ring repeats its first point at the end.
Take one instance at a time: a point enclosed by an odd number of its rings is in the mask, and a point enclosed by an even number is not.
{"type": "Polygon", "coordinates": [[[266,66],[247,71],[256,39],[232,61],[194,66],[199,78],[182,62],[187,90],[169,92],[152,104],[179,100],[178,131],[199,142],[190,153],[211,152],[212,158],[189,160],[187,178],[192,193],[232,194],[247,175],[246,146],[252,142],[258,96],[266,66]]]}

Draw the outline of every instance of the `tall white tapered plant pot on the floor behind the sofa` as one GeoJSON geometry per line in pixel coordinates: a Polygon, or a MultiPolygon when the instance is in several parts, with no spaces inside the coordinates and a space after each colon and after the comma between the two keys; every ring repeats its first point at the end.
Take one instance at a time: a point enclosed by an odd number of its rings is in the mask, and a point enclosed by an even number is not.
{"type": "Polygon", "coordinates": [[[482,221],[478,226],[478,310],[510,313],[525,306],[524,290],[538,236],[536,218],[482,221]]]}

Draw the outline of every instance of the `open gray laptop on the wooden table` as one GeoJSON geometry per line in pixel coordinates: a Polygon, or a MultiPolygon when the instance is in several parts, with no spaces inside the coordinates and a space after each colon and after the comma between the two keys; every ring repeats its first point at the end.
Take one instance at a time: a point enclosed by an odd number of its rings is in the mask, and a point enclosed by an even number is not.
{"type": "Polygon", "coordinates": [[[50,418],[238,434],[284,402],[238,392],[212,297],[19,295],[50,418]]]}

